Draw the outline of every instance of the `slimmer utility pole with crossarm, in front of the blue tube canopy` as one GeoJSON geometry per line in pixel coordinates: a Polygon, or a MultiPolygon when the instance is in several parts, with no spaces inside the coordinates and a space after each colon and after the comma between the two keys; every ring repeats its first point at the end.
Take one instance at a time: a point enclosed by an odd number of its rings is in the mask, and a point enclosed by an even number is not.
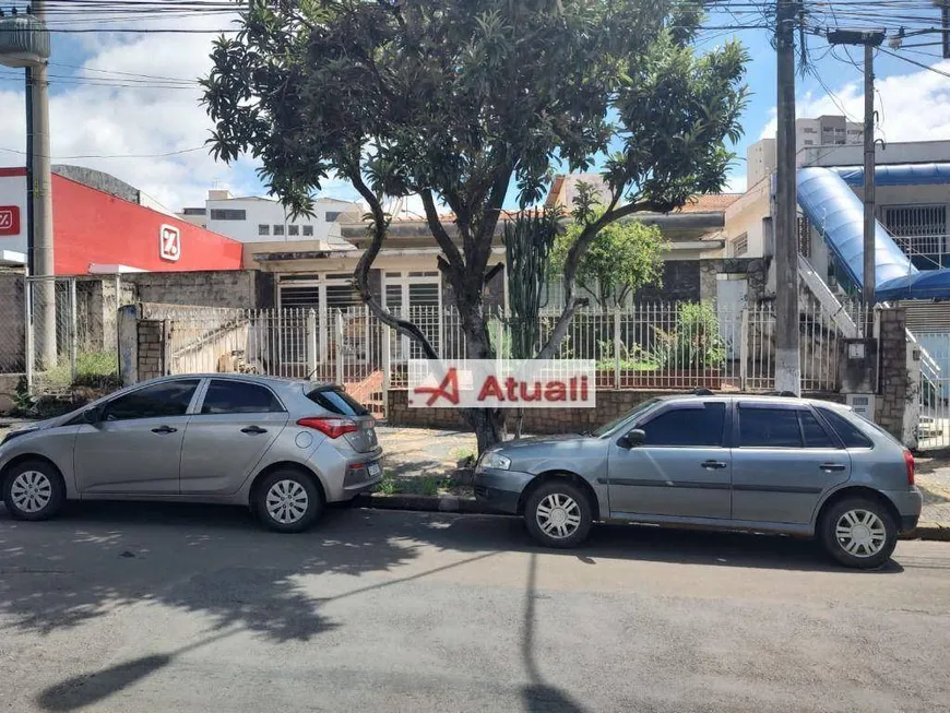
{"type": "Polygon", "coordinates": [[[875,72],[874,50],[884,40],[882,29],[835,29],[828,33],[832,45],[864,46],[864,274],[862,300],[865,314],[864,336],[874,331],[875,297],[875,72]]]}

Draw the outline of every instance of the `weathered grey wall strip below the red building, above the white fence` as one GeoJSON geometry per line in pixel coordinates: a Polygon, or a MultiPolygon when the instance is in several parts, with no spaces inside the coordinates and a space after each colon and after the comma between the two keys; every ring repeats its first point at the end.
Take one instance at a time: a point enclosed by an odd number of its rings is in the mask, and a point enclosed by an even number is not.
{"type": "Polygon", "coordinates": [[[197,307],[258,307],[257,271],[155,272],[122,275],[140,302],[197,307]]]}

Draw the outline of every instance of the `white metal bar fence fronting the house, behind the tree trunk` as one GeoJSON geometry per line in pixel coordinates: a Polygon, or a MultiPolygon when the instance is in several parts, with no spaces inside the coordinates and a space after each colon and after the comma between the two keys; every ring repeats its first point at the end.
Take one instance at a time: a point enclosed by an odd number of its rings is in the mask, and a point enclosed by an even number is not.
{"type": "MultiPolygon", "coordinates": [[[[387,326],[366,307],[330,309],[170,308],[171,373],[244,371],[343,383],[381,412],[385,389],[407,385],[417,342],[387,326]]],[[[466,358],[468,345],[454,308],[419,307],[399,314],[417,324],[442,358],[466,358]]],[[[857,318],[857,316],[855,316],[857,318]]],[[[558,313],[539,318],[539,342],[558,313]]],[[[803,304],[801,387],[836,391],[841,333],[817,304],[803,304]]],[[[859,318],[858,318],[859,319],[859,318]]],[[[495,354],[511,355],[521,325],[490,314],[495,354]]],[[[770,305],[716,309],[706,304],[636,305],[580,310],[555,358],[593,359],[597,385],[608,389],[709,388],[771,391],[775,382],[775,314],[770,305]]]]}

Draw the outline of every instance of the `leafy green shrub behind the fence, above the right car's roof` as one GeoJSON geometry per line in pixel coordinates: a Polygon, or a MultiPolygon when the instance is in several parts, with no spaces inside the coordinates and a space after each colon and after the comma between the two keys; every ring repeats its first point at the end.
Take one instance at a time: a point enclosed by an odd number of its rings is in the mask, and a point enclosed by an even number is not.
{"type": "Polygon", "coordinates": [[[654,357],[662,369],[719,369],[726,348],[712,305],[685,302],[677,308],[676,329],[653,328],[658,338],[654,357]]]}

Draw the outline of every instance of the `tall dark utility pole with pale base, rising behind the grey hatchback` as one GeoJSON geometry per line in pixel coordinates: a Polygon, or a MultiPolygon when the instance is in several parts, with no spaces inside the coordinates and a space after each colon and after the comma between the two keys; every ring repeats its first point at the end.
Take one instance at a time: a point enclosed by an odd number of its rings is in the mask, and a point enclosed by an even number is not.
{"type": "Polygon", "coordinates": [[[775,23],[779,128],[775,141],[775,389],[801,392],[798,332],[798,189],[795,178],[794,0],[779,0],[775,23]]]}

